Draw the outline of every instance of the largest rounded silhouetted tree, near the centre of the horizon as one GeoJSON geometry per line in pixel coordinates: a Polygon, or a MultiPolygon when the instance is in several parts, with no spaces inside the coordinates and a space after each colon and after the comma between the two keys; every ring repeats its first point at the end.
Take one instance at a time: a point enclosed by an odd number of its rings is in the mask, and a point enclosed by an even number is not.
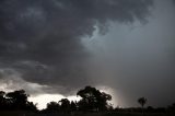
{"type": "Polygon", "coordinates": [[[112,100],[109,94],[100,92],[92,86],[85,86],[85,89],[78,91],[77,95],[82,97],[78,103],[80,111],[106,111],[107,101],[112,100]]]}

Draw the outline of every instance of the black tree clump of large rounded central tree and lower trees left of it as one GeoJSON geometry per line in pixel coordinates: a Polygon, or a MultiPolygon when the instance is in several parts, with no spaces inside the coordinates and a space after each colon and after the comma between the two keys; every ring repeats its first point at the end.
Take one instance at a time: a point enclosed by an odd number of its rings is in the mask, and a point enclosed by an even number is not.
{"type": "Polygon", "coordinates": [[[68,98],[61,98],[59,102],[48,103],[46,109],[43,112],[104,112],[112,108],[112,105],[108,104],[108,101],[112,100],[112,95],[101,92],[95,88],[85,86],[79,90],[77,95],[81,97],[78,102],[70,102],[68,98]]]}

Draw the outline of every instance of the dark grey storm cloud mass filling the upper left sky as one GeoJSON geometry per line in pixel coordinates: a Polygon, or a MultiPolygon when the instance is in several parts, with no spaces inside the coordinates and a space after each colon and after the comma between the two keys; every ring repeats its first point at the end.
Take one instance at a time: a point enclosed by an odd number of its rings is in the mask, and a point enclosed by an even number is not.
{"type": "Polygon", "coordinates": [[[27,82],[89,84],[81,37],[108,21],[145,21],[152,0],[1,0],[0,63],[27,82]]]}

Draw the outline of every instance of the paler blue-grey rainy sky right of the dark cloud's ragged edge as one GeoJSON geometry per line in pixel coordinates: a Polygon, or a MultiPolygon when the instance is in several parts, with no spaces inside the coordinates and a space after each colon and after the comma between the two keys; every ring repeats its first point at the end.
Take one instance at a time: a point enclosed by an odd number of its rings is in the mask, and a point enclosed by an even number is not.
{"type": "Polygon", "coordinates": [[[138,96],[153,106],[175,101],[174,11],[172,0],[155,0],[145,25],[112,23],[106,35],[96,31],[91,40],[84,39],[96,57],[93,66],[98,70],[92,77],[116,90],[119,105],[137,106],[138,96]]]}

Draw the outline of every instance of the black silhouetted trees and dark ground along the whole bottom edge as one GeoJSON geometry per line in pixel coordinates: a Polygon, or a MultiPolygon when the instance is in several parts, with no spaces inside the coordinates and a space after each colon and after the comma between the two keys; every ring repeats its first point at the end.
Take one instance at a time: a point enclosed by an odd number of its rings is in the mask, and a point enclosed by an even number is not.
{"type": "Polygon", "coordinates": [[[145,107],[147,98],[138,98],[141,107],[119,108],[108,104],[112,96],[100,90],[85,86],[77,92],[78,102],[62,98],[47,103],[45,109],[38,111],[36,104],[28,102],[24,90],[5,93],[0,91],[0,116],[174,116],[175,104],[167,107],[145,107]]]}

